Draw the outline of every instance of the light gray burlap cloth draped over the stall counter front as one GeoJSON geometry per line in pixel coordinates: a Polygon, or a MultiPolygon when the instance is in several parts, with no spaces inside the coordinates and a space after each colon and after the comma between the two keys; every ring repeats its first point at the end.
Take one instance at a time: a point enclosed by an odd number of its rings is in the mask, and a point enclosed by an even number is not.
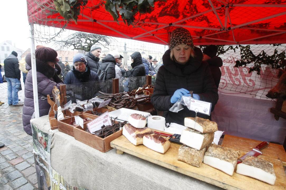
{"type": "Polygon", "coordinates": [[[116,154],[115,149],[102,153],[57,129],[51,130],[47,116],[31,123],[52,135],[51,167],[70,185],[90,190],[221,189],[127,153],[116,154]]]}

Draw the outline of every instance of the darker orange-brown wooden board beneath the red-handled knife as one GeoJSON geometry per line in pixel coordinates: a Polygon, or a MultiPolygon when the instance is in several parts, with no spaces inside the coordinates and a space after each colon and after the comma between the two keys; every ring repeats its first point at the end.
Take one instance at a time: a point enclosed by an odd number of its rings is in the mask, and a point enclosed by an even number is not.
{"type": "MultiPolygon", "coordinates": [[[[261,143],[261,141],[236,137],[232,135],[225,135],[223,138],[222,146],[230,147],[235,150],[247,153],[259,145],[259,143],[261,143]]],[[[286,166],[286,152],[282,145],[269,143],[269,145],[262,149],[261,152],[263,156],[278,159],[282,162],[283,166],[286,166]]]]}

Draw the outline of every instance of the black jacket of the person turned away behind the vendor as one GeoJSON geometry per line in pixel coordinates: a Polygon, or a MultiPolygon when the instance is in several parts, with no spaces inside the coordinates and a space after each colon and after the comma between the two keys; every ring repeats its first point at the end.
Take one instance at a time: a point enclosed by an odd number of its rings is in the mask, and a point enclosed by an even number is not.
{"type": "Polygon", "coordinates": [[[210,71],[212,73],[212,78],[215,81],[215,85],[219,88],[219,82],[221,81],[221,69],[219,67],[223,66],[223,60],[218,57],[212,57],[206,61],[210,66],[210,71]]]}

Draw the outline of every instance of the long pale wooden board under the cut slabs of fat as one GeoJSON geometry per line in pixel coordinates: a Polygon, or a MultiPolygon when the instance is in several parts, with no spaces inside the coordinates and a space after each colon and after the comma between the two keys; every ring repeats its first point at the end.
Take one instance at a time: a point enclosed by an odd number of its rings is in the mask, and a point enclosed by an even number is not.
{"type": "Polygon", "coordinates": [[[178,161],[177,155],[180,145],[176,143],[171,143],[170,148],[165,154],[157,153],[151,149],[148,149],[144,145],[135,146],[131,144],[123,135],[111,141],[110,144],[111,147],[125,153],[134,155],[138,158],[158,164],[168,169],[172,169],[184,175],[188,175],[218,187],[222,187],[224,189],[286,189],[286,177],[284,169],[281,162],[277,159],[260,156],[261,158],[271,161],[274,164],[274,171],[277,179],[275,185],[272,186],[237,173],[234,173],[233,176],[229,176],[222,171],[205,165],[204,163],[197,168],[182,161],[178,161]]]}

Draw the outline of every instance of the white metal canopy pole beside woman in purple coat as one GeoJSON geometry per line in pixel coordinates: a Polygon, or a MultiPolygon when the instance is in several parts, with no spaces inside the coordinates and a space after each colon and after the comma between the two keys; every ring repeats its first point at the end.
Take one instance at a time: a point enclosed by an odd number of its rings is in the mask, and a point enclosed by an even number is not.
{"type": "Polygon", "coordinates": [[[31,26],[31,63],[32,63],[32,81],[33,81],[33,95],[34,95],[34,108],[35,118],[39,118],[39,100],[38,100],[38,87],[37,87],[37,70],[36,70],[36,55],[35,55],[35,41],[34,41],[34,24],[31,26]]]}

